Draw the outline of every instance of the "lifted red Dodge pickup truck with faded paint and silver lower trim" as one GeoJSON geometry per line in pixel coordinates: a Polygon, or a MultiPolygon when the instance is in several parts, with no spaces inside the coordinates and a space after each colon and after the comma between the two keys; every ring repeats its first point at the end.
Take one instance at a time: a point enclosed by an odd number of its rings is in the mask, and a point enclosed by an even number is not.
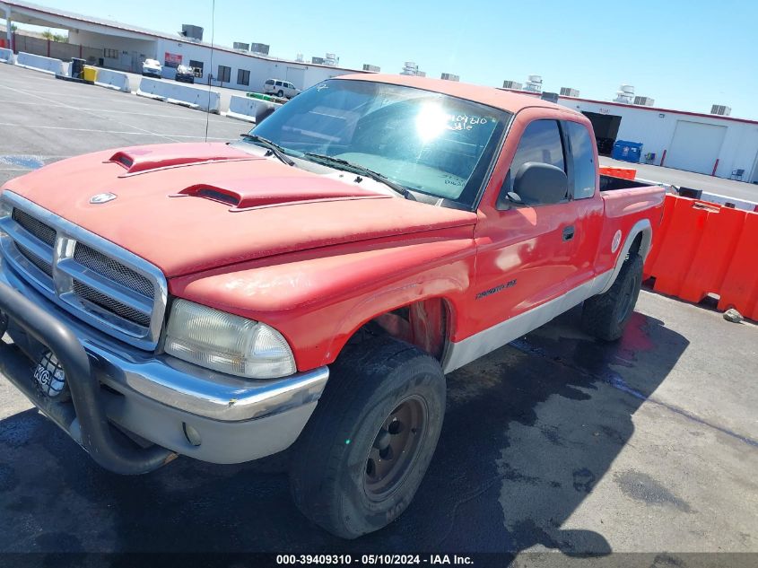
{"type": "Polygon", "coordinates": [[[545,101],[361,74],[230,144],[49,165],[0,196],[0,370],[112,471],[292,446],[303,513],[379,529],[445,373],[581,302],[623,334],[664,191],[601,179],[593,140],[545,101]]]}

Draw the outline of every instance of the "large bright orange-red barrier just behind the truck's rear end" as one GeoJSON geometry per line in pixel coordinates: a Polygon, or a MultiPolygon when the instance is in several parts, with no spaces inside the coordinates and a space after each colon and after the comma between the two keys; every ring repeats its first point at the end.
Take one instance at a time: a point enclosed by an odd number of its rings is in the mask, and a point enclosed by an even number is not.
{"type": "Polygon", "coordinates": [[[667,195],[645,277],[660,293],[701,301],[719,295],[719,310],[758,320],[758,214],[667,195]]]}

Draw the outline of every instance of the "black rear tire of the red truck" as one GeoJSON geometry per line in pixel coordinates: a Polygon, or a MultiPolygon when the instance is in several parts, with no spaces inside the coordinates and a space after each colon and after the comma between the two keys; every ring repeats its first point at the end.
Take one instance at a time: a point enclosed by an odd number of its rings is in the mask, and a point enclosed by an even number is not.
{"type": "Polygon", "coordinates": [[[642,258],[634,254],[624,260],[614,284],[606,293],[593,296],[584,302],[581,312],[581,328],[584,332],[603,341],[615,341],[623,336],[623,330],[632,318],[641,285],[642,258]],[[632,309],[623,321],[619,321],[619,311],[623,310],[622,292],[630,279],[635,279],[632,309]]]}

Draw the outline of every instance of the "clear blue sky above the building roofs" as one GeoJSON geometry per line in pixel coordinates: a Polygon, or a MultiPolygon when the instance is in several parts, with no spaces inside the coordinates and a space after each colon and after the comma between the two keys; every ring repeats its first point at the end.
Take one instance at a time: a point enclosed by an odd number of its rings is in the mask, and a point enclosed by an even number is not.
{"type": "MultiPolygon", "coordinates": [[[[194,23],[211,38],[211,0],[36,2],[167,32],[194,23]]],[[[600,100],[630,83],[656,106],[708,112],[726,104],[732,116],[758,118],[758,3],[747,0],[280,5],[216,0],[216,43],[267,43],[275,57],[302,53],[306,60],[332,52],[341,66],[370,63],[389,73],[414,61],[429,76],[447,72],[498,86],[541,74],[545,91],[573,87],[600,100]]]]}

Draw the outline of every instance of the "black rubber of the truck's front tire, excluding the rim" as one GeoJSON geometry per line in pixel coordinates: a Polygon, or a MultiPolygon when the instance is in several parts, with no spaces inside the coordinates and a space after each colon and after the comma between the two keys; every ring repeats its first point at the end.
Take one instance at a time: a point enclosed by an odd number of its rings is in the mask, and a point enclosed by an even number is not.
{"type": "Polygon", "coordinates": [[[360,537],[395,520],[421,485],[437,446],[445,390],[440,363],[414,345],[380,336],[345,347],[293,446],[290,481],[301,512],[343,538],[360,537]],[[383,502],[371,502],[362,486],[368,448],[396,403],[412,392],[428,405],[423,446],[397,491],[383,502]]]}

